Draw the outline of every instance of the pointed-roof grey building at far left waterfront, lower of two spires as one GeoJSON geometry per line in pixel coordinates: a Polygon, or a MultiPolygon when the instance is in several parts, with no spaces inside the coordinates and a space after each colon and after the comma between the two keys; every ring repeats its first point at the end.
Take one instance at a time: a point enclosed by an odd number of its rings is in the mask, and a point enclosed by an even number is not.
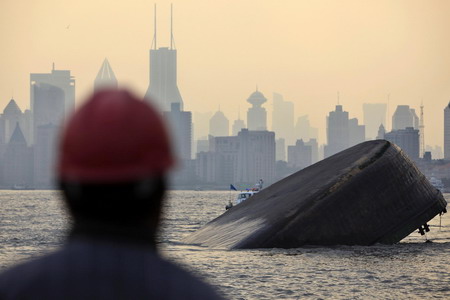
{"type": "Polygon", "coordinates": [[[33,186],[33,150],[16,123],[3,155],[2,185],[5,188],[33,186]]]}

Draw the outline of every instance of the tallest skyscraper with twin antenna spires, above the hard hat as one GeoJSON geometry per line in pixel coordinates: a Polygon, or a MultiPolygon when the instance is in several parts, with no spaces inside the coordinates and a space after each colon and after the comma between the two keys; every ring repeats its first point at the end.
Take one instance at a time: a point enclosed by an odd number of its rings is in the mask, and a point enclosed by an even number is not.
{"type": "Polygon", "coordinates": [[[154,12],[154,34],[150,49],[150,84],[145,98],[153,101],[161,111],[170,111],[172,103],[183,110],[183,99],[177,85],[177,50],[173,38],[173,14],[170,6],[170,47],[157,45],[156,4],[154,12]]]}

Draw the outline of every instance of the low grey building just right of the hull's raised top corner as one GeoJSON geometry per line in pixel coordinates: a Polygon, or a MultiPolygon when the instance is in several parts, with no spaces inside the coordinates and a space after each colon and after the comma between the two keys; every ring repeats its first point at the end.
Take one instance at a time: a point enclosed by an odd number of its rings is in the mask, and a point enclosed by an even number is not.
{"type": "Polygon", "coordinates": [[[419,130],[413,127],[406,129],[392,130],[384,135],[387,141],[390,141],[400,148],[413,160],[419,159],[419,130]]]}

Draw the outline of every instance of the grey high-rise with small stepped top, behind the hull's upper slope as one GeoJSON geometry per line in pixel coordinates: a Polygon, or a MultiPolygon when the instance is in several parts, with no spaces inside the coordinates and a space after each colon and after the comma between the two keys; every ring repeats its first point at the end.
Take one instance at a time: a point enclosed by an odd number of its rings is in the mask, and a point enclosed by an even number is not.
{"type": "Polygon", "coordinates": [[[349,143],[348,112],[342,109],[342,105],[336,105],[335,111],[331,111],[327,117],[327,145],[324,149],[325,158],[348,148],[349,143]]]}

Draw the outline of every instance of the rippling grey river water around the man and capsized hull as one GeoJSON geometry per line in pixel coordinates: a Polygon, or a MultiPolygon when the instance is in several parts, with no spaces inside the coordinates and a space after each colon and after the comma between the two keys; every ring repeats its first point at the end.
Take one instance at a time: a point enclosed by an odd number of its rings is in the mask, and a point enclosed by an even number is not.
{"type": "MultiPolygon", "coordinates": [[[[450,194],[446,195],[450,199],[450,194]]],[[[450,298],[450,214],[397,245],[224,251],[180,241],[224,211],[229,192],[173,191],[162,254],[229,299],[450,298]],[[442,223],[439,226],[439,223],[442,223]]],[[[0,269],[61,245],[70,221],[54,191],[0,191],[0,269]]]]}

